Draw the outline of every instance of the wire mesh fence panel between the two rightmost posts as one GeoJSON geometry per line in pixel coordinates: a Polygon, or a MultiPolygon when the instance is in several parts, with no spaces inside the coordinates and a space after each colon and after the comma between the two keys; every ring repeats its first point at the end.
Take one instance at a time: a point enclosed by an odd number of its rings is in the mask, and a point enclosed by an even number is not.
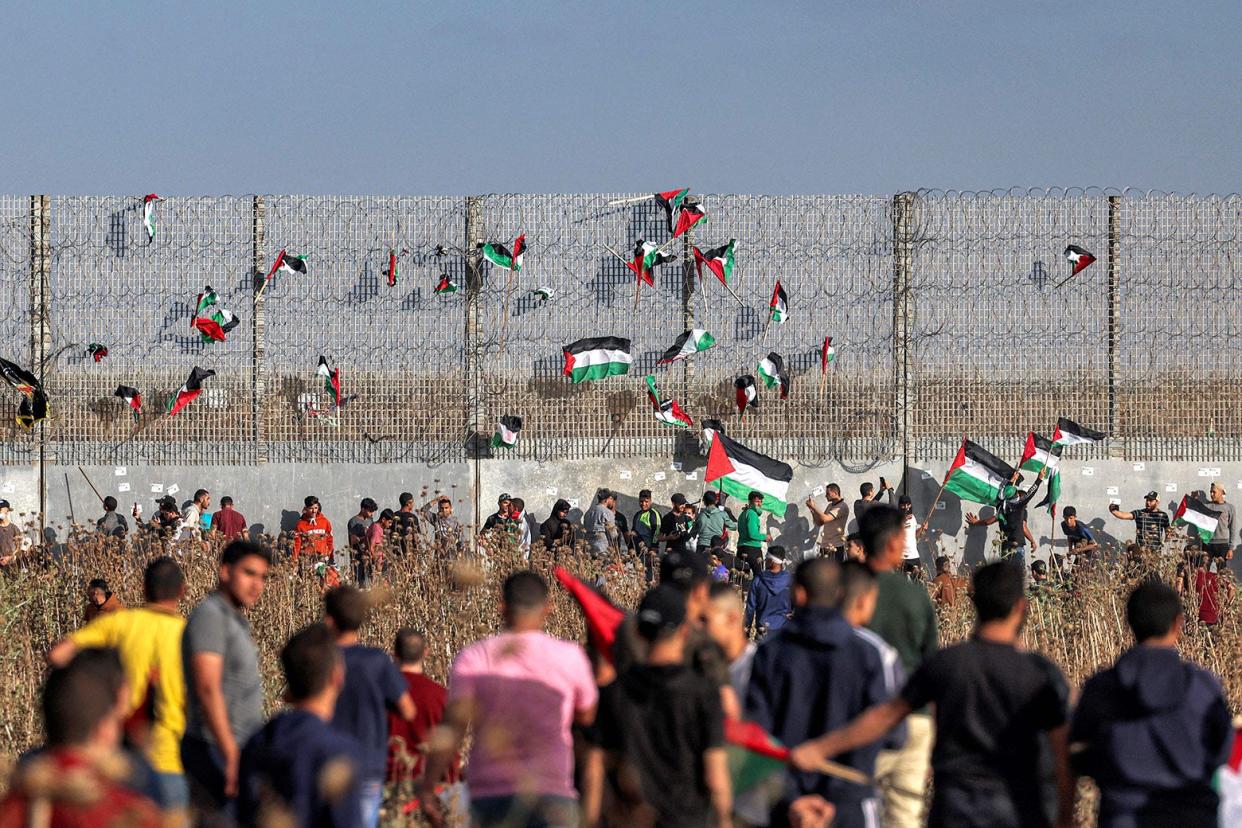
{"type": "Polygon", "coordinates": [[[915,456],[951,457],[969,433],[1016,459],[1062,415],[1107,427],[1108,197],[922,192],[913,212],[915,456]],[[1067,282],[1071,243],[1099,261],[1067,282]]]}

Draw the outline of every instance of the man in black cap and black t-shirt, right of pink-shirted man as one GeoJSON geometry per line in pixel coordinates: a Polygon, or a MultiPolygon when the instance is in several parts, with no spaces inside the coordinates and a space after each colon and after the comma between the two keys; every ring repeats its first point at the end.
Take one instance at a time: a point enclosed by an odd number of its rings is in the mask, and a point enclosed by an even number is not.
{"type": "Polygon", "coordinates": [[[663,583],[638,605],[643,663],[626,668],[600,700],[616,824],[729,824],[733,797],[724,714],[715,686],[686,664],[686,596],[663,583]]]}

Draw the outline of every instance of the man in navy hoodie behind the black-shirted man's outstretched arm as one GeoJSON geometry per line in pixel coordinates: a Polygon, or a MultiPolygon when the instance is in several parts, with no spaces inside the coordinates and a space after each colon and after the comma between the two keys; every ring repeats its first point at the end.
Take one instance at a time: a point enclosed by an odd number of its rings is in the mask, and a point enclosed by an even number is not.
{"type": "MultiPolygon", "coordinates": [[[[786,745],[799,745],[888,701],[879,652],[841,614],[841,567],[827,557],[804,561],[794,574],[794,617],[755,652],[746,688],[746,719],[786,745]]],[[[841,754],[837,761],[871,776],[879,742],[841,754]]],[[[789,806],[820,794],[836,807],[833,828],[874,824],[876,790],[814,771],[790,771],[773,826],[789,824],[789,806]]]]}

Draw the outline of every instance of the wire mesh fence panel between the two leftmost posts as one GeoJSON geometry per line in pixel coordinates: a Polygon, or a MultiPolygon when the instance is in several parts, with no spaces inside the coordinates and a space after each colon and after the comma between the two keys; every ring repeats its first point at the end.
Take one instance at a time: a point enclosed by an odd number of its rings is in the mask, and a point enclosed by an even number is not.
{"type": "Polygon", "coordinates": [[[45,438],[57,461],[247,463],[251,417],[252,199],[168,199],[143,225],[142,196],[51,200],[45,438]],[[190,328],[207,286],[241,320],[226,341],[190,328]],[[91,344],[107,348],[96,361],[91,344]],[[161,416],[194,366],[216,375],[175,417],[161,416]],[[142,394],[135,421],[118,386],[142,394]]]}

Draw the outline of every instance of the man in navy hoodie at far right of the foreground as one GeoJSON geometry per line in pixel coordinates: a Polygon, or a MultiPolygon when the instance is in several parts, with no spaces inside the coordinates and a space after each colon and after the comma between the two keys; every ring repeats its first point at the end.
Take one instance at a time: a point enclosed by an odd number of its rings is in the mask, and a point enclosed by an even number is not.
{"type": "Polygon", "coordinates": [[[1215,828],[1212,773],[1230,756],[1220,680],[1177,654],[1181,600],[1134,588],[1125,617],[1136,646],[1087,680],[1069,729],[1074,770],[1099,786],[1099,826],[1215,828]]]}

